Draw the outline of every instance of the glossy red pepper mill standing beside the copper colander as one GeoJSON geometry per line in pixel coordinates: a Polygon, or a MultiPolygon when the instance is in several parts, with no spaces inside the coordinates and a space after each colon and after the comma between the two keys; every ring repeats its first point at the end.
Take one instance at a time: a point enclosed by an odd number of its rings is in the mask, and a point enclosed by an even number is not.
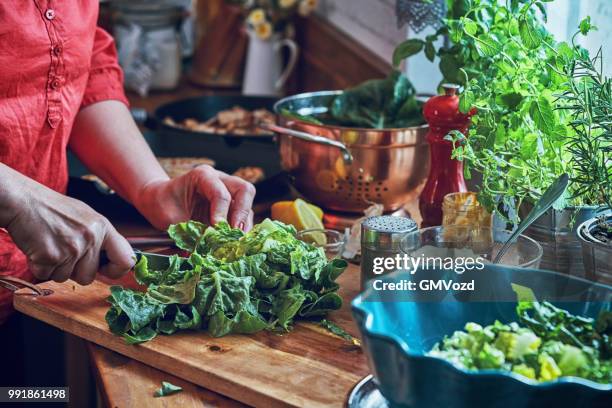
{"type": "Polygon", "coordinates": [[[467,191],[463,178],[463,162],[451,159],[453,144],[444,140],[451,130],[467,135],[472,109],[464,114],[459,111],[458,85],[443,84],[444,95],[429,98],[423,107],[423,116],[429,124],[427,142],[430,147],[429,177],[419,197],[419,209],[423,221],[421,227],[442,224],[442,200],[448,193],[467,191]]]}

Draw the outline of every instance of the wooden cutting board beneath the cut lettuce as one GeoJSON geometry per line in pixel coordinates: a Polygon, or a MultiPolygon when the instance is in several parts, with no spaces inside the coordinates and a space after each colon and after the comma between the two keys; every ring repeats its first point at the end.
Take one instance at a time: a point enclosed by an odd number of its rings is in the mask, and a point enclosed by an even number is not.
{"type": "MultiPolygon", "coordinates": [[[[350,300],[358,293],[359,269],[350,265],[340,276],[341,310],[330,314],[357,335],[350,300]]],[[[132,282],[122,282],[133,285],[132,282]]],[[[256,407],[341,407],[351,388],[368,374],[360,347],[312,323],[298,323],[291,333],[262,332],[212,338],[204,332],[160,335],[132,346],[113,335],[104,320],[109,285],[46,282],[53,294],[15,293],[15,308],[66,332],[99,344],[194,384],[256,407]]],[[[129,381],[129,378],[126,378],[129,381]]]]}

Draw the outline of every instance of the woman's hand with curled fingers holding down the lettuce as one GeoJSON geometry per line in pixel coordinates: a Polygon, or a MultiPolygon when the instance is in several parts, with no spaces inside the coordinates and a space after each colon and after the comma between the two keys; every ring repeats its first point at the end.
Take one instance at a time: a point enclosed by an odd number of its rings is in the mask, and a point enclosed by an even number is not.
{"type": "Polygon", "coordinates": [[[195,219],[215,224],[227,219],[232,227],[253,226],[255,187],[211,166],[198,166],[184,176],[146,184],[134,204],[155,227],[195,219]]]}

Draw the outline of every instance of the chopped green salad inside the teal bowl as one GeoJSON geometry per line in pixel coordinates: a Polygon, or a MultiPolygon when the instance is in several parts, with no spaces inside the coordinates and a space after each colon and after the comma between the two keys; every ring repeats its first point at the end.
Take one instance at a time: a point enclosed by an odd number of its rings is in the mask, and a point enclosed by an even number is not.
{"type": "Polygon", "coordinates": [[[469,370],[502,369],[537,381],[563,376],[612,383],[612,311],[597,320],[548,302],[519,302],[519,323],[467,323],[429,355],[469,370]]]}

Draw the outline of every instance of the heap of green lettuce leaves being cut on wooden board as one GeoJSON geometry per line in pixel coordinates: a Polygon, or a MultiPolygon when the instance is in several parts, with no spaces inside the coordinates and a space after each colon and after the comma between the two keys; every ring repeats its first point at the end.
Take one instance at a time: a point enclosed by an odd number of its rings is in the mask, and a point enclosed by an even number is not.
{"type": "Polygon", "coordinates": [[[293,226],[266,219],[250,232],[227,222],[170,226],[189,258],[171,257],[152,270],[142,257],[134,268],[146,292],[111,287],[110,330],[135,344],[157,334],[206,330],[213,337],[261,330],[288,331],[295,319],[339,309],[336,278],[347,264],[295,237],[293,226]]]}

